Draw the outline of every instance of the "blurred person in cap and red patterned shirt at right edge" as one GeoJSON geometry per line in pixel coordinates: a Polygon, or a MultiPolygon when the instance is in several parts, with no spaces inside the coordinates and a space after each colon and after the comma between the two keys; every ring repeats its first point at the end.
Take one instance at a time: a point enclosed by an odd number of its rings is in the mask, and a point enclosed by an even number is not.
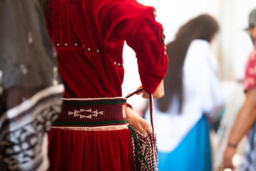
{"type": "MultiPolygon", "coordinates": [[[[246,29],[250,33],[252,43],[256,44],[256,9],[250,12],[249,26],[246,29]]],[[[223,155],[223,165],[225,168],[235,169],[232,163],[237,144],[242,137],[248,135],[245,152],[242,158],[242,171],[256,170],[256,46],[250,53],[245,68],[245,79],[243,81],[246,98],[240,112],[237,115],[235,125],[232,128],[230,137],[227,140],[227,147],[223,155]]]]}

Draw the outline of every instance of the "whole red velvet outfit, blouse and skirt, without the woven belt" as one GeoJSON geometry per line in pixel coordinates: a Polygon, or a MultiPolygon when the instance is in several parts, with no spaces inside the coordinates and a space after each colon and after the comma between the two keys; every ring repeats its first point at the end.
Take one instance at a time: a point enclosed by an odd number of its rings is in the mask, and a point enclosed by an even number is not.
{"type": "MultiPolygon", "coordinates": [[[[133,48],[143,88],[153,93],[168,66],[153,7],[135,0],[50,0],[48,30],[65,98],[121,97],[123,43],[133,48]]],[[[50,170],[135,170],[130,132],[51,129],[50,170]]]]}

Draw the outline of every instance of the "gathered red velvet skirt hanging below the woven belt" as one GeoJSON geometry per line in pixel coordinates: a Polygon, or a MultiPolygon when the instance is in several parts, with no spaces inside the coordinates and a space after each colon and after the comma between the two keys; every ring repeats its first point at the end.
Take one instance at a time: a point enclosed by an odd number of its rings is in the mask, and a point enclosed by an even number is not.
{"type": "Polygon", "coordinates": [[[135,170],[128,129],[97,132],[51,129],[48,138],[48,157],[55,163],[49,170],[135,170]]]}

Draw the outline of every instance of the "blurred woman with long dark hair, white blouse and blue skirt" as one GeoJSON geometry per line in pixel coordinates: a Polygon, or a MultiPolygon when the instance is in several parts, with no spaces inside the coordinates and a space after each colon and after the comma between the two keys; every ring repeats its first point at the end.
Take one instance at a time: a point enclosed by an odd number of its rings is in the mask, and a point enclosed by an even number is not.
{"type": "Polygon", "coordinates": [[[208,118],[223,103],[217,59],[210,51],[218,29],[217,21],[203,14],[181,26],[167,45],[165,96],[155,100],[161,171],[212,170],[208,118]]]}

